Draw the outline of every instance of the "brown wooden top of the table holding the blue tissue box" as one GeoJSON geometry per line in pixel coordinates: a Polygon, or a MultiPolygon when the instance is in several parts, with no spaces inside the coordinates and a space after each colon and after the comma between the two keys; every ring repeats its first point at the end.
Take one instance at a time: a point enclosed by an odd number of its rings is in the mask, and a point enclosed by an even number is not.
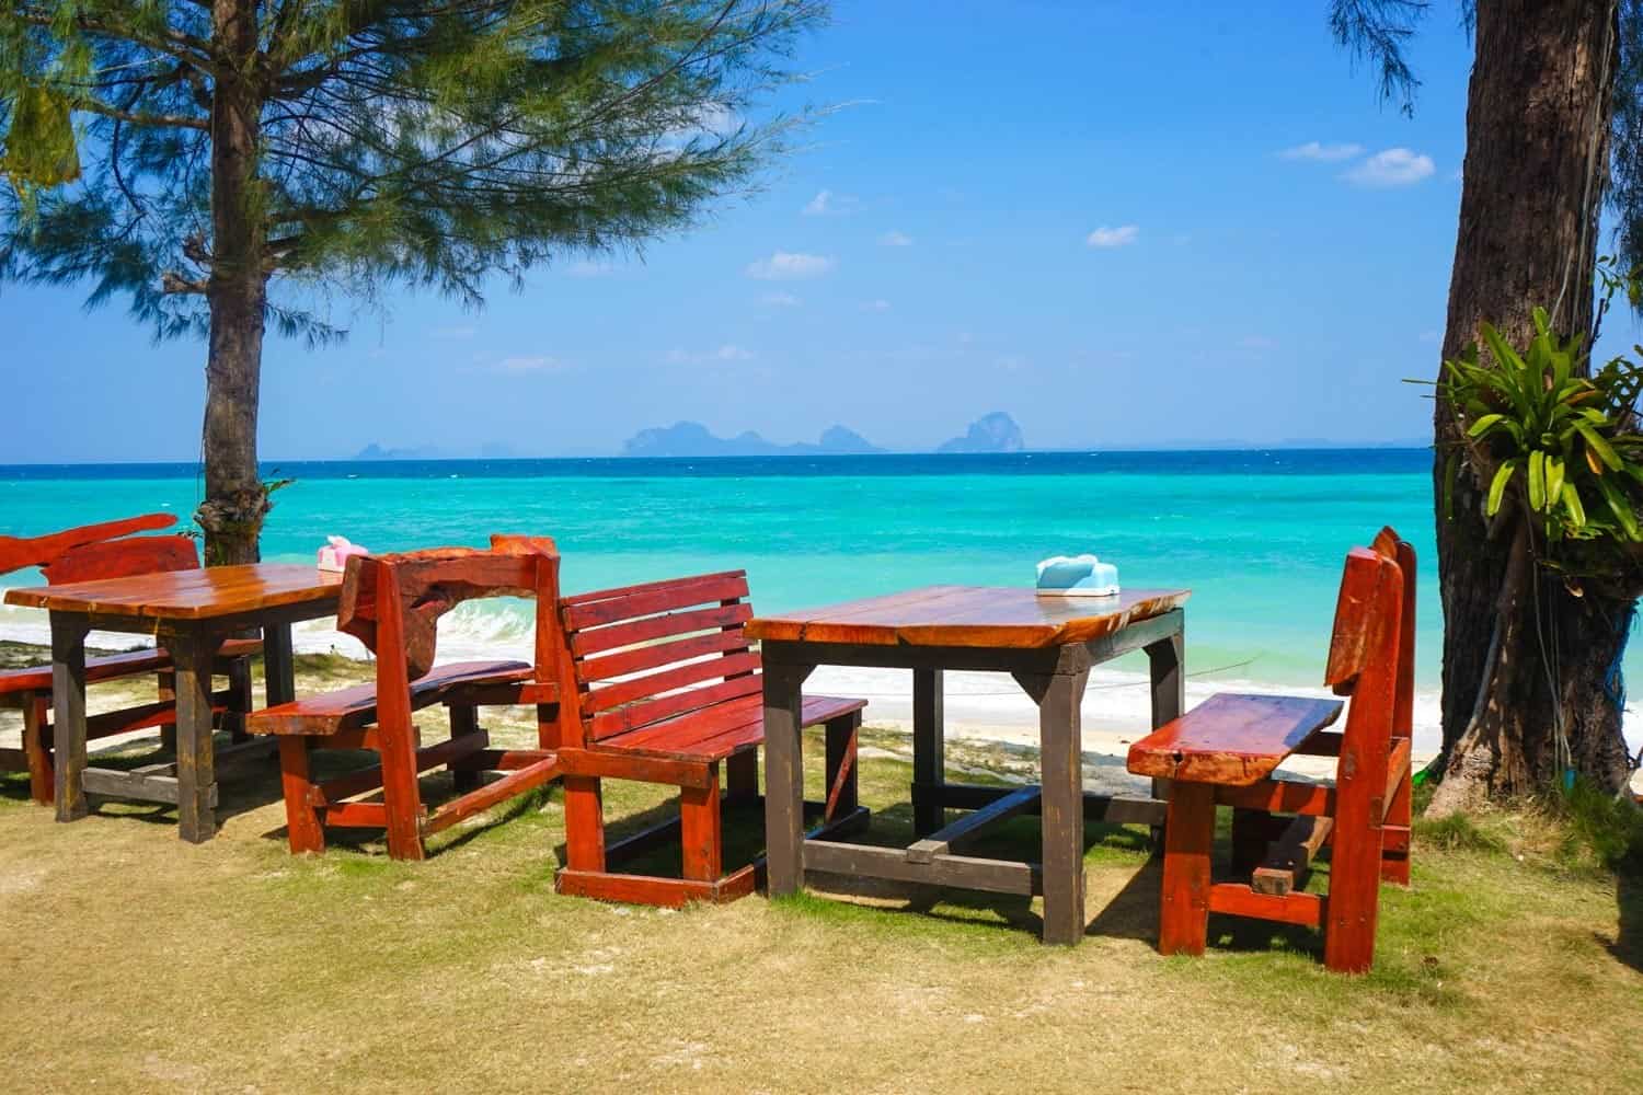
{"type": "Polygon", "coordinates": [[[1020,586],[927,586],[807,612],[761,616],[769,642],[1035,650],[1093,642],[1186,604],[1191,589],[1124,589],[1116,598],[1038,596],[1020,586]]]}

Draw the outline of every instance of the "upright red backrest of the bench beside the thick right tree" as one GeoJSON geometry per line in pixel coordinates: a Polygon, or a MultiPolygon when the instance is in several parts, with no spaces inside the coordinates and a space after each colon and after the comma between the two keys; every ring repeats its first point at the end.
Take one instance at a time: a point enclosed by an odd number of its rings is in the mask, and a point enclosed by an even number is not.
{"type": "Polygon", "coordinates": [[[1415,550],[1392,529],[1352,548],[1341,575],[1324,683],[1351,696],[1336,767],[1337,821],[1380,826],[1388,757],[1415,708],[1415,550]]]}

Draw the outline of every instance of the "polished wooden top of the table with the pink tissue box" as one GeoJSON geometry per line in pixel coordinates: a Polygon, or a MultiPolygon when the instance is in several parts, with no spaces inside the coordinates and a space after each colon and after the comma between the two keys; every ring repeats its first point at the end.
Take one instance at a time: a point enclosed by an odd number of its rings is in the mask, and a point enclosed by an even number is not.
{"type": "Polygon", "coordinates": [[[301,563],[207,566],[8,589],[7,604],[131,621],[207,621],[335,601],[342,575],[301,563]]]}

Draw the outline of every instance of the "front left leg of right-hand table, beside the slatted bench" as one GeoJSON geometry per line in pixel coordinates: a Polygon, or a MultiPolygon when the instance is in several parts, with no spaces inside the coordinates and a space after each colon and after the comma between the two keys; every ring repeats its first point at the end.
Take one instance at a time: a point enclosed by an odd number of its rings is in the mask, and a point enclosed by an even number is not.
{"type": "Polygon", "coordinates": [[[813,667],[764,667],[764,845],[771,896],[805,885],[805,763],[800,754],[805,678],[813,667]]]}

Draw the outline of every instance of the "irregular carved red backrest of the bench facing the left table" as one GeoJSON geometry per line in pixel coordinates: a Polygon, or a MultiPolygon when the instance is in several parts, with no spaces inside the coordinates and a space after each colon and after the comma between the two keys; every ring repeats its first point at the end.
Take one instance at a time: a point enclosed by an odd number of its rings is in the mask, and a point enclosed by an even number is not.
{"type": "Polygon", "coordinates": [[[409,690],[411,681],[434,668],[439,617],[480,598],[536,601],[536,665],[555,663],[554,614],[541,611],[559,598],[559,552],[547,537],[493,535],[490,550],[430,548],[350,558],[337,629],[376,655],[378,691],[409,690]]]}

